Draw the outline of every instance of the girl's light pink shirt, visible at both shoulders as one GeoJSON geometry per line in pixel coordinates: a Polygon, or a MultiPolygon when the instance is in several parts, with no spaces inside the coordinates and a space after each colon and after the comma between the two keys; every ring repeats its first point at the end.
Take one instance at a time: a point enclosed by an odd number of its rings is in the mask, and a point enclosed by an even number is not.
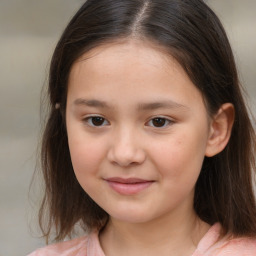
{"type": "MultiPolygon", "coordinates": [[[[256,256],[256,238],[222,239],[220,224],[213,225],[191,256],[256,256]]],[[[97,232],[74,240],[49,245],[28,256],[105,256],[97,232]]]]}

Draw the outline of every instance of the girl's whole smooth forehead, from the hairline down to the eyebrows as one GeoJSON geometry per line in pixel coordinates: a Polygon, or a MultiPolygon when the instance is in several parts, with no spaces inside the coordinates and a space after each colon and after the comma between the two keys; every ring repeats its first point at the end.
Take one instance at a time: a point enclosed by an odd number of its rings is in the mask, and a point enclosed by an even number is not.
{"type": "Polygon", "coordinates": [[[68,86],[68,95],[77,98],[92,94],[114,101],[148,96],[155,101],[161,94],[179,95],[181,104],[188,96],[201,100],[201,93],[172,56],[157,45],[135,40],[99,46],[82,55],[72,66],[68,86]]]}

